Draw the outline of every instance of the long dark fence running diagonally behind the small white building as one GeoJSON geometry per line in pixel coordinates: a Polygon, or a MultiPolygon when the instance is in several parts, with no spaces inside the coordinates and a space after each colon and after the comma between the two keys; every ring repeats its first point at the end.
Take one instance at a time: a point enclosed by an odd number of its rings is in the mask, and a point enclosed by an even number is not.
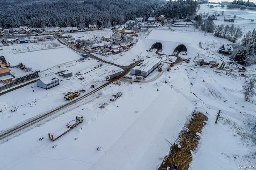
{"type": "Polygon", "coordinates": [[[38,78],[38,77],[39,77],[38,72],[34,72],[34,73],[31,73],[31,74],[25,75],[23,77],[16,78],[15,80],[10,81],[8,84],[0,87],[0,92],[2,90],[7,89],[7,88],[16,86],[20,83],[24,83],[24,82],[27,82],[29,80],[33,80],[33,79],[38,78]]]}

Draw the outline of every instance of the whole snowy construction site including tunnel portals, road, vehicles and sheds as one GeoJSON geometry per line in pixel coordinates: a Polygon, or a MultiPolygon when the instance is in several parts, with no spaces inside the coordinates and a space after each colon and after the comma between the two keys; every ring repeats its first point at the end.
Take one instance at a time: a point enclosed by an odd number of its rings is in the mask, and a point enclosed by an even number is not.
{"type": "Polygon", "coordinates": [[[0,169],[231,170],[254,163],[256,110],[242,86],[254,66],[219,54],[224,38],[179,29],[138,33],[130,47],[89,49],[64,37],[53,49],[41,50],[51,42],[6,46],[5,58],[22,60],[37,77],[0,91],[0,169]],[[12,50],[21,45],[32,50],[12,50]]]}

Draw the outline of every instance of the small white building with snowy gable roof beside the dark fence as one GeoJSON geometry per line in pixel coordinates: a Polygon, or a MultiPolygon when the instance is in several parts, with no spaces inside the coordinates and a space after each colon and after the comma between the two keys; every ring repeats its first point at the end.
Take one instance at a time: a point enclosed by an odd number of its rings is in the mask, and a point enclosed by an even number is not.
{"type": "Polygon", "coordinates": [[[59,79],[56,77],[47,76],[37,80],[37,86],[45,89],[52,88],[56,85],[59,85],[59,79]]]}

